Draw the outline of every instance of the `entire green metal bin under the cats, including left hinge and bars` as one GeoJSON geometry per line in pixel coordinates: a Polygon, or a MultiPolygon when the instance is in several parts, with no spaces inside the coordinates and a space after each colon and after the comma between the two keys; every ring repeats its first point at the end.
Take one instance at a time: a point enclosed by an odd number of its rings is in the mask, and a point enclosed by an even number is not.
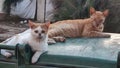
{"type": "MultiPolygon", "coordinates": [[[[15,49],[17,59],[0,61],[14,62],[19,68],[116,68],[120,34],[111,35],[111,38],[67,38],[65,43],[49,45],[48,52],[41,55],[36,64],[30,63],[33,53],[28,45],[7,46],[15,49]]],[[[6,46],[0,48],[6,49],[6,46]]],[[[3,58],[0,56],[0,59],[3,58]]]]}

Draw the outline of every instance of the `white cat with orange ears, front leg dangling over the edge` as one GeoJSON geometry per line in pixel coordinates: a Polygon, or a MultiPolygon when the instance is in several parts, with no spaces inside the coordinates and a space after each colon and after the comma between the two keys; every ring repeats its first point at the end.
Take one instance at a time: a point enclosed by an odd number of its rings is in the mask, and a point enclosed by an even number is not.
{"type": "MultiPolygon", "coordinates": [[[[29,44],[32,48],[32,51],[35,52],[35,54],[32,57],[32,63],[37,62],[38,58],[42,53],[48,50],[48,44],[47,44],[47,32],[49,28],[50,23],[33,23],[29,21],[29,27],[30,29],[17,34],[16,36],[13,36],[6,41],[3,42],[3,44],[6,45],[16,45],[16,44],[29,44]]],[[[1,54],[5,57],[10,57],[12,54],[2,49],[1,54]]]]}

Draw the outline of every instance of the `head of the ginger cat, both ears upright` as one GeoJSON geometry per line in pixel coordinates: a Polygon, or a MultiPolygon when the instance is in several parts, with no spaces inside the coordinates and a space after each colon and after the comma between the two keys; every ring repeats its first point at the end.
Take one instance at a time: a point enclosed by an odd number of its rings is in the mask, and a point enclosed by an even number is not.
{"type": "Polygon", "coordinates": [[[101,12],[101,11],[96,11],[94,8],[90,8],[91,18],[94,18],[97,24],[103,24],[105,18],[108,16],[108,13],[109,13],[108,10],[101,12]]]}

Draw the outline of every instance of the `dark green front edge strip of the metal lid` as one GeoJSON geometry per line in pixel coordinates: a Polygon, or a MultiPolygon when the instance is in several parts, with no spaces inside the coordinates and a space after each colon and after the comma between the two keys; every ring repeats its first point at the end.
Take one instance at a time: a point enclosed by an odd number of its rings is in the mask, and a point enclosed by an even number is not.
{"type": "Polygon", "coordinates": [[[116,68],[115,61],[61,55],[43,55],[37,64],[76,68],[116,68]]]}

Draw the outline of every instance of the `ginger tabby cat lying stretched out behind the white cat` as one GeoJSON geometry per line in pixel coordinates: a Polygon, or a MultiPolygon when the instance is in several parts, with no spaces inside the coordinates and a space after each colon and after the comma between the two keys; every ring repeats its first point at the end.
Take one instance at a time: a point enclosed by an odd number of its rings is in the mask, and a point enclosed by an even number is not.
{"type": "Polygon", "coordinates": [[[109,38],[109,34],[102,32],[104,28],[103,23],[108,13],[108,10],[101,12],[91,7],[90,18],[63,20],[51,24],[48,37],[55,41],[65,41],[65,37],[109,38]]]}

